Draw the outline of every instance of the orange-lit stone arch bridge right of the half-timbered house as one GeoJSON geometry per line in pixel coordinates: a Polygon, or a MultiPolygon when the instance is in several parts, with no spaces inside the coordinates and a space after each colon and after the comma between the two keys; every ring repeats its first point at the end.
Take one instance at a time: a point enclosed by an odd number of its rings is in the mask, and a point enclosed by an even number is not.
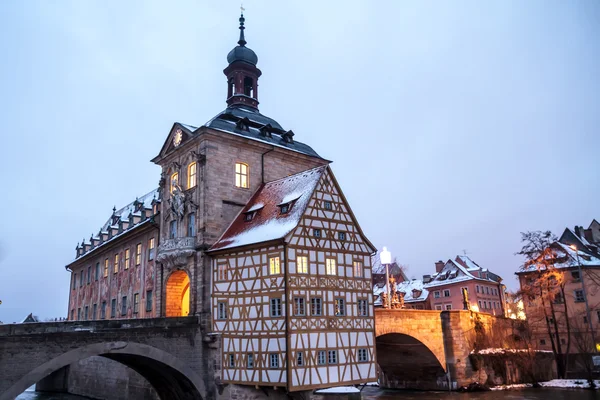
{"type": "Polygon", "coordinates": [[[477,380],[469,360],[477,318],[486,329],[502,320],[471,311],[376,309],[381,386],[448,390],[477,380]]]}

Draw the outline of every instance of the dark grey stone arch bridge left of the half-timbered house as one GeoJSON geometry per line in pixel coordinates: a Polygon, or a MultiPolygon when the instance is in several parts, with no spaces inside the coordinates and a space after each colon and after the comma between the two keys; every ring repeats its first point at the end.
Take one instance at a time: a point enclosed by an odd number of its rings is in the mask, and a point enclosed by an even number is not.
{"type": "Polygon", "coordinates": [[[41,380],[60,386],[93,356],[132,368],[161,399],[207,399],[206,347],[197,317],[0,325],[0,400],[41,380]]]}

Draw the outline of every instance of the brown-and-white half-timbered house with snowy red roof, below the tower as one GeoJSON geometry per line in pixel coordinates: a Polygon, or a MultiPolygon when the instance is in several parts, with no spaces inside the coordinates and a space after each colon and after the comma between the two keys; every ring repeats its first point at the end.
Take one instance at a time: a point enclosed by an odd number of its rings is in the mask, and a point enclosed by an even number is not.
{"type": "Polygon", "coordinates": [[[223,382],[375,379],[371,255],[329,167],[265,184],[212,246],[223,382]]]}

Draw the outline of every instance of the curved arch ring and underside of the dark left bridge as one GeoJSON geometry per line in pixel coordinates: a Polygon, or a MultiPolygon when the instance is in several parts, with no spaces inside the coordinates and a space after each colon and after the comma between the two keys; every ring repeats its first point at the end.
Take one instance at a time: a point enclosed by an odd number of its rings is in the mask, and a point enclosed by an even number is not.
{"type": "Polygon", "coordinates": [[[175,356],[141,343],[104,342],[68,351],[34,368],[1,393],[0,400],[14,399],[52,372],[92,356],[106,357],[133,369],[161,399],[201,399],[206,393],[201,377],[175,356]]]}

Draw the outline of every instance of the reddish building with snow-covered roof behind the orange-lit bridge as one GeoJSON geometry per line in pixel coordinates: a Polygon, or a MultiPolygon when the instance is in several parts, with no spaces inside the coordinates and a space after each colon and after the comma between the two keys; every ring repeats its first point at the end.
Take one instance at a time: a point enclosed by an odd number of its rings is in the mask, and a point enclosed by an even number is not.
{"type": "Polygon", "coordinates": [[[423,276],[433,310],[465,310],[504,316],[502,278],[468,256],[435,263],[436,272],[423,276]]]}

